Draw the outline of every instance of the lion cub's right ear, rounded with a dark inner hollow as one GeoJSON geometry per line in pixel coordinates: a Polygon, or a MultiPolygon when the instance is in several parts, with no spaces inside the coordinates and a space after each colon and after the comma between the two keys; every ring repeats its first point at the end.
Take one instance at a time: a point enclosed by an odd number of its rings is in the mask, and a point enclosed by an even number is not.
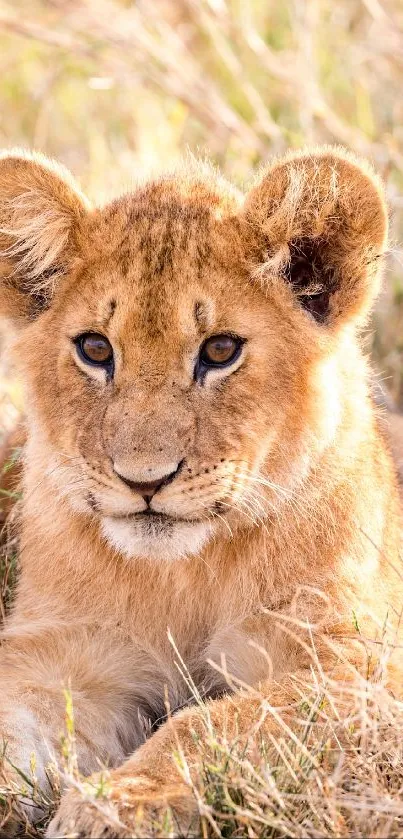
{"type": "Polygon", "coordinates": [[[319,323],[363,320],[388,228],[369,164],[338,148],[289,154],[265,172],[243,213],[263,282],[281,275],[319,323]]]}

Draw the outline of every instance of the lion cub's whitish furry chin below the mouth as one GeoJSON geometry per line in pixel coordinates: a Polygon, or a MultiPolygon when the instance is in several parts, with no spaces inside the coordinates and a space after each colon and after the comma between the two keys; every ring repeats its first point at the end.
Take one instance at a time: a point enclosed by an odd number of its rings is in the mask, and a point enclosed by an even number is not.
{"type": "Polygon", "coordinates": [[[102,534],[127,557],[155,560],[183,559],[199,553],[213,535],[210,522],[148,520],[147,517],[102,520],[102,534]]]}

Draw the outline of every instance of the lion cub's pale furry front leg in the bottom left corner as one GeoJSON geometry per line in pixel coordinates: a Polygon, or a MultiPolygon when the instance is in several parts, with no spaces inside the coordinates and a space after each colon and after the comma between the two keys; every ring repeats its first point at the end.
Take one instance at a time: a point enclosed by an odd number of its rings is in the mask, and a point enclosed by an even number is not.
{"type": "MultiPolygon", "coordinates": [[[[10,630],[12,624],[8,625],[10,630]]],[[[11,633],[10,633],[11,634],[11,633]]],[[[144,740],[133,702],[133,649],[125,650],[91,628],[21,635],[0,649],[0,747],[4,751],[0,786],[0,835],[15,819],[7,801],[15,793],[29,821],[43,813],[21,788],[23,775],[35,768],[38,787],[51,792],[48,770],[60,766],[66,736],[66,700],[72,699],[70,749],[80,773],[117,766],[144,740]],[[130,669],[129,669],[130,667],[130,669]],[[130,716],[130,724],[129,724],[130,716]],[[21,792],[18,793],[18,790],[21,792]],[[26,798],[24,797],[26,795],[26,798]]],[[[63,765],[62,765],[63,770],[63,765]]],[[[19,808],[20,809],[20,808],[19,808]]],[[[11,835],[14,835],[11,833],[11,835]]]]}

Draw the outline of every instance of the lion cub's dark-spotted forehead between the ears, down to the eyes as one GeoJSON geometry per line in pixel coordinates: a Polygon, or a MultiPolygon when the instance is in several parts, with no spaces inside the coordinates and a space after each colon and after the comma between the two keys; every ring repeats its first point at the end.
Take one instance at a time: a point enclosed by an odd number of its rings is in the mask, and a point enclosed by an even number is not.
{"type": "Polygon", "coordinates": [[[154,333],[169,324],[208,329],[214,301],[225,305],[226,291],[231,297],[228,275],[244,268],[238,206],[230,187],[166,179],[97,211],[86,263],[99,290],[98,318],[122,303],[154,333]]]}

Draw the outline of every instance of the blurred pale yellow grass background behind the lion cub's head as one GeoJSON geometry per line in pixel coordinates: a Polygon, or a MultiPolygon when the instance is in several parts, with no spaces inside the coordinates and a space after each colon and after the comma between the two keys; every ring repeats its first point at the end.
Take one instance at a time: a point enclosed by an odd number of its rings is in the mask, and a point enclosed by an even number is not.
{"type": "MultiPolygon", "coordinates": [[[[368,341],[403,408],[402,0],[0,0],[0,143],[52,155],[98,201],[190,149],[238,185],[336,142],[387,184],[392,247],[368,341]]],[[[3,374],[3,426],[18,386],[3,374]]]]}

